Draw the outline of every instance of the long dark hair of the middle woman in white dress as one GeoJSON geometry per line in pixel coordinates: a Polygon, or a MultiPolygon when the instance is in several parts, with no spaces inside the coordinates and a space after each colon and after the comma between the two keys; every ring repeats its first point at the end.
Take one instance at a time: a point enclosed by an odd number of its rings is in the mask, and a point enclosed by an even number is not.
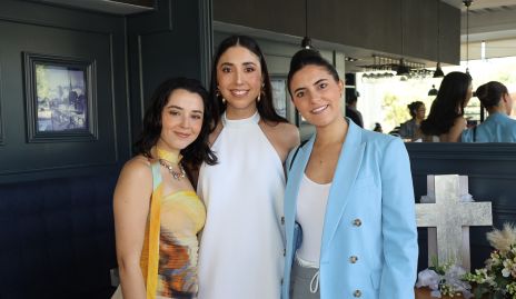
{"type": "Polygon", "coordinates": [[[280,117],[272,104],[272,87],[270,84],[269,71],[267,70],[267,63],[265,61],[264,53],[260,50],[258,43],[246,36],[231,36],[222,40],[217,48],[217,53],[214,58],[214,64],[211,66],[211,84],[210,84],[210,97],[214,102],[214,111],[218,113],[212,114],[214,128],[220,120],[220,116],[226,111],[226,103],[222,102],[222,96],[217,94],[217,64],[219,63],[220,57],[231,47],[244,47],[247,50],[255,53],[261,66],[261,77],[264,78],[264,90],[261,93],[261,99],[256,103],[258,113],[265,120],[277,121],[277,122],[287,122],[287,120],[280,117]]]}

